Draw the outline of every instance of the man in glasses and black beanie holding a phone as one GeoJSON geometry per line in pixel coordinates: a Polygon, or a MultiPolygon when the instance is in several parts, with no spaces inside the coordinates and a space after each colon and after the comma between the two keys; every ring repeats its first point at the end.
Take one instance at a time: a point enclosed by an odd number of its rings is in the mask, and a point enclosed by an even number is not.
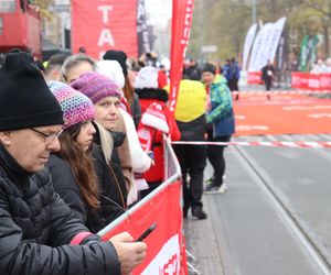
{"type": "Polygon", "coordinates": [[[0,274],[129,274],[146,244],[128,233],[100,242],[53,190],[45,164],[60,148],[62,124],[32,56],[8,53],[0,68],[0,274]]]}

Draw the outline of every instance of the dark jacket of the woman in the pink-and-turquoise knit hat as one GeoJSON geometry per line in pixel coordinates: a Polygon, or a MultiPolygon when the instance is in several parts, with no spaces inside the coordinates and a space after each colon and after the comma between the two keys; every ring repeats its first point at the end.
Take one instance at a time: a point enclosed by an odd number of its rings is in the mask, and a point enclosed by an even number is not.
{"type": "Polygon", "coordinates": [[[79,219],[90,232],[97,233],[108,226],[117,217],[122,215],[124,210],[114,198],[117,194],[109,168],[106,165],[104,155],[98,146],[92,150],[95,170],[98,179],[100,206],[97,210],[90,209],[84,201],[71,166],[58,155],[52,154],[49,161],[49,167],[52,175],[54,189],[60,197],[74,211],[75,218],[79,219]],[[116,201],[114,204],[113,201],[116,201]]]}

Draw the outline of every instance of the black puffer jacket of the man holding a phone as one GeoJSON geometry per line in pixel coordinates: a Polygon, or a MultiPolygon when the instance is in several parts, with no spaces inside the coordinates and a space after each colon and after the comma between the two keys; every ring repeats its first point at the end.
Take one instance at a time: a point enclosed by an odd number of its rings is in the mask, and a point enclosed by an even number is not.
{"type": "Polygon", "coordinates": [[[0,274],[120,274],[110,242],[92,235],[53,190],[49,170],[23,170],[0,144],[0,274]]]}

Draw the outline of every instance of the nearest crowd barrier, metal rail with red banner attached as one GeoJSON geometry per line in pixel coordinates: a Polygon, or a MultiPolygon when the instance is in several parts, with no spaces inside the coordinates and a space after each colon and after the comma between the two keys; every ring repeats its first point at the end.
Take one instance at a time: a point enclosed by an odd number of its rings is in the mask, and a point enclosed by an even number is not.
{"type": "Polygon", "coordinates": [[[164,158],[167,180],[98,232],[105,241],[124,231],[137,239],[152,223],[157,223],[156,230],[143,240],[148,246],[146,258],[134,270],[134,275],[188,274],[181,206],[181,169],[168,140],[164,158]]]}

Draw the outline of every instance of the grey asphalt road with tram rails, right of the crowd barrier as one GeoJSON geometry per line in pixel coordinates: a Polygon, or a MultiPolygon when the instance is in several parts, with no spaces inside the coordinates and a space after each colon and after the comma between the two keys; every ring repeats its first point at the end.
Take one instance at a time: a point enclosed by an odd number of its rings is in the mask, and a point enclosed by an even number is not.
{"type": "MultiPolygon", "coordinates": [[[[331,135],[235,141],[249,139],[331,135]]],[[[207,220],[185,220],[196,274],[331,274],[331,150],[229,146],[225,157],[227,191],[204,195],[207,220]]]]}

